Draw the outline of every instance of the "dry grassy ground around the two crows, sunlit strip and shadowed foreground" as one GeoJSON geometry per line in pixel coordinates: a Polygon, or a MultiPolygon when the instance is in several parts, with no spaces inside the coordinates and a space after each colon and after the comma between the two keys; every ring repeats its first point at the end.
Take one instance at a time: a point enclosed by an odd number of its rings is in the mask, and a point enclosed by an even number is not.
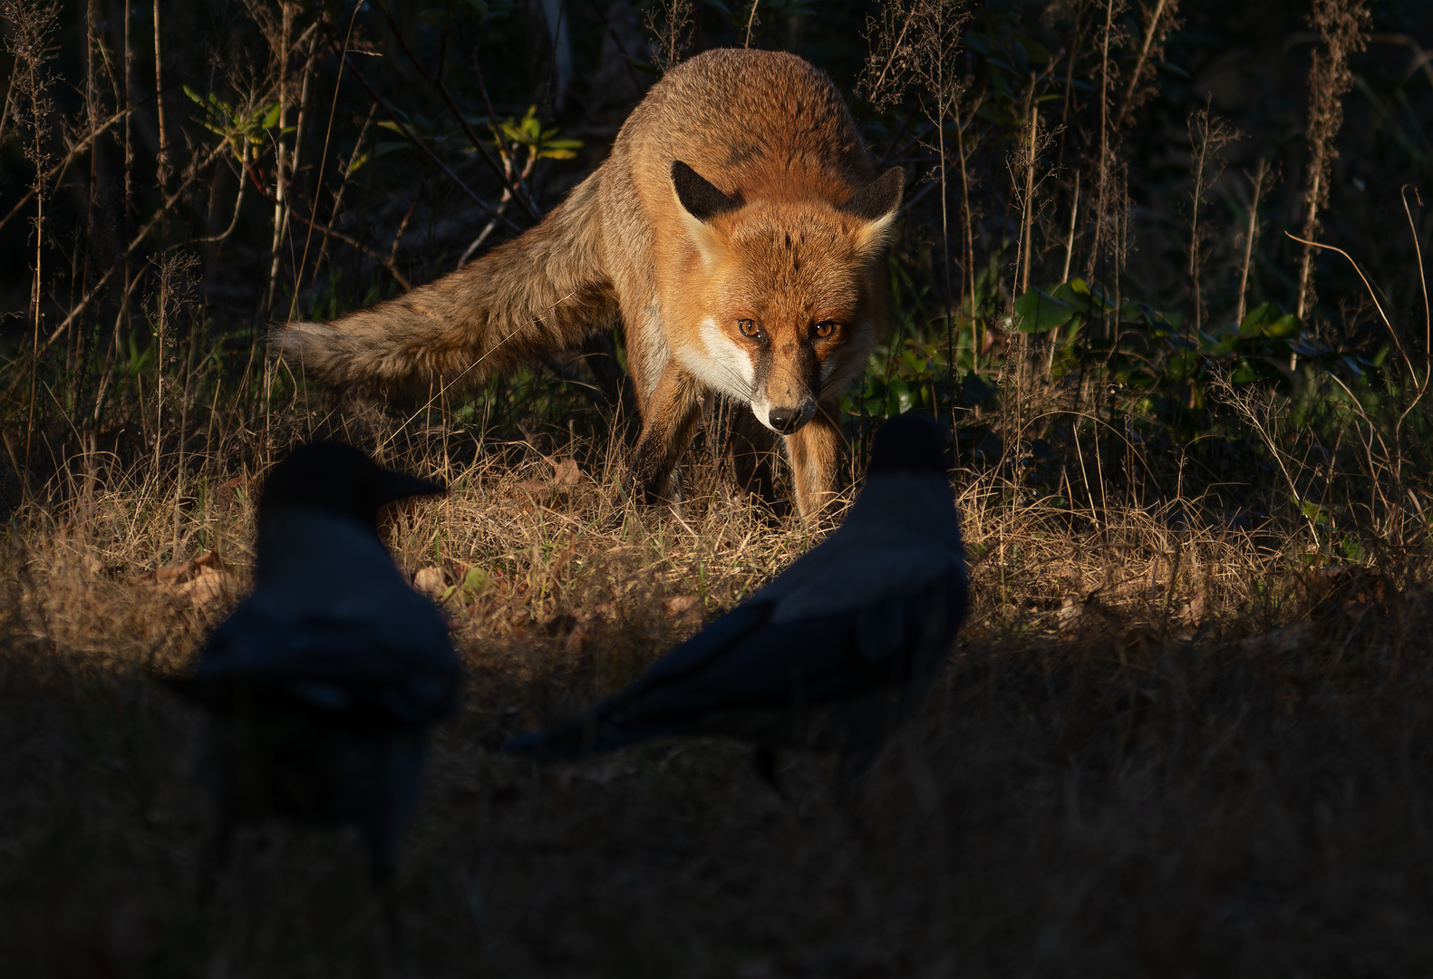
{"type": "MultiPolygon", "coordinates": [[[[408,840],[408,975],[1409,975],[1433,960],[1416,588],[1159,512],[1045,510],[959,472],[973,613],[857,811],[835,804],[823,760],[787,761],[787,804],[716,741],[537,768],[496,745],[623,684],[808,545],[702,464],[684,519],[639,512],[616,490],[619,453],[586,449],[598,464],[576,483],[562,470],[567,484],[530,450],[401,460],[453,492],[393,515],[400,563],[490,581],[447,603],[470,675],[408,840]]],[[[216,548],[242,589],[252,484],[176,500],[100,470],[13,525],[6,973],[393,973],[355,839],[255,833],[198,900],[198,718],[146,674],[182,668],[234,595],[201,602],[155,570],[216,548]]]]}

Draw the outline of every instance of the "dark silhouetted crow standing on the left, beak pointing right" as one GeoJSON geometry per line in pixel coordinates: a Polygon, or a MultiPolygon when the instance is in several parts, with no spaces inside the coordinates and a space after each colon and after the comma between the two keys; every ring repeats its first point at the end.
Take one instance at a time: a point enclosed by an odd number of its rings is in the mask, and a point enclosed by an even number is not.
{"type": "Polygon", "coordinates": [[[317,441],[264,483],[254,593],[172,681],[212,717],[201,773],[236,823],[355,824],[391,893],[423,783],[427,730],[457,702],[460,665],[437,606],[378,539],[378,509],[441,484],[317,441]]]}

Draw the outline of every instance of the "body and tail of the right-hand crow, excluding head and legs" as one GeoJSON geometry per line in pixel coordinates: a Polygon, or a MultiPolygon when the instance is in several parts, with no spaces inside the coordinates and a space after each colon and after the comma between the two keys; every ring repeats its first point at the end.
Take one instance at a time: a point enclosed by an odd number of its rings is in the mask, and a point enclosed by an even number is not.
{"type": "MultiPolygon", "coordinates": [[[[867,482],[845,523],[632,687],[510,754],[606,751],[731,711],[791,711],[898,688],[949,651],[964,615],[960,525],[943,476],[867,482]]],[[[715,722],[714,722],[715,725],[715,722]]]]}

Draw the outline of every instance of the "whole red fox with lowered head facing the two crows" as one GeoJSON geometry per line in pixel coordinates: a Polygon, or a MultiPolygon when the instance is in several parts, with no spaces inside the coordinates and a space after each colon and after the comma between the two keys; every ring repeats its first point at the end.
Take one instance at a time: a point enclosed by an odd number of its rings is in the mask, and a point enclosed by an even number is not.
{"type": "Polygon", "coordinates": [[[279,327],[307,376],[367,393],[477,383],[620,318],[642,416],[632,480],[678,500],[704,396],[782,436],[798,510],[837,492],[837,400],[884,325],[898,166],[794,54],[714,50],[652,86],[612,155],[542,224],[332,323],[279,327]]]}

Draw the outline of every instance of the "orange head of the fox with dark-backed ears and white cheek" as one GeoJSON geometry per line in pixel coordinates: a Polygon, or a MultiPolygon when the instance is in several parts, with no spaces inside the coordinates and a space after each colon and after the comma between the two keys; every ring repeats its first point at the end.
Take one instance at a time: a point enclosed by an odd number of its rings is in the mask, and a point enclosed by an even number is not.
{"type": "Polygon", "coordinates": [[[698,343],[675,350],[704,383],[751,403],[791,434],[866,367],[884,317],[886,239],[904,175],[886,171],[850,199],[752,201],[722,194],[681,161],[672,186],[702,275],[678,297],[698,343]]]}

